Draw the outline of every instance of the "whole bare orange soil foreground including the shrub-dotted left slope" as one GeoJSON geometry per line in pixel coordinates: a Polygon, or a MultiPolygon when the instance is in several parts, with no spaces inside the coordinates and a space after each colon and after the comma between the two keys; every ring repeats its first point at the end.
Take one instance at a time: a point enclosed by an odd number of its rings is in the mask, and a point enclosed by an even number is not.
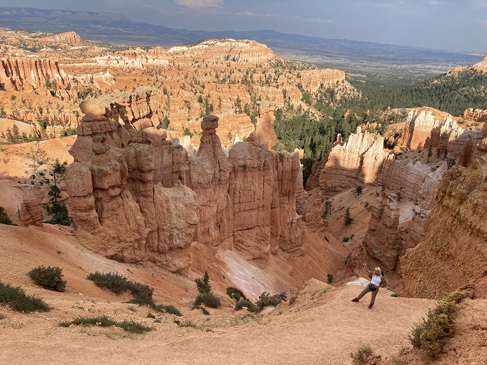
{"type": "Polygon", "coordinates": [[[368,310],[369,297],[350,301],[362,287],[330,288],[312,280],[293,305],[282,303],[255,320],[236,318],[245,312],[234,312],[225,294],[217,292],[226,304],[220,310],[210,309],[207,317],[189,310],[196,294],[189,278],[150,265],[117,263],[86,251],[56,226],[43,230],[49,232],[0,225],[2,282],[22,285],[54,307],[31,314],[0,308],[8,317],[0,321],[2,364],[120,364],[128,359],[134,364],[350,364],[350,351],[365,343],[383,356],[407,346],[412,324],[434,305],[427,299],[394,298],[381,290],[374,309],[368,310]],[[66,292],[49,292],[31,282],[26,273],[40,264],[63,268],[66,292]],[[99,289],[85,279],[96,270],[118,271],[153,286],[157,303],[176,304],[184,315],[179,319],[211,331],[177,327],[172,315],[160,315],[161,322],[154,323],[146,317],[148,308],[129,310],[122,303],[127,296],[99,289]],[[156,330],[123,338],[116,329],[58,327],[60,321],[77,316],[104,314],[135,319],[156,330]],[[238,324],[245,321],[249,322],[238,324]]]}

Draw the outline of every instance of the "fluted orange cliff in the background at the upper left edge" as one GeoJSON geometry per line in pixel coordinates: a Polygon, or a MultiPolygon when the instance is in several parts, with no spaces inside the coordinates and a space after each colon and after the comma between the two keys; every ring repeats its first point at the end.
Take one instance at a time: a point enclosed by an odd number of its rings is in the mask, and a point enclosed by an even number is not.
{"type": "Polygon", "coordinates": [[[62,97],[69,88],[68,75],[57,61],[32,57],[0,58],[0,87],[7,91],[25,91],[51,95],[50,90],[62,97]]]}

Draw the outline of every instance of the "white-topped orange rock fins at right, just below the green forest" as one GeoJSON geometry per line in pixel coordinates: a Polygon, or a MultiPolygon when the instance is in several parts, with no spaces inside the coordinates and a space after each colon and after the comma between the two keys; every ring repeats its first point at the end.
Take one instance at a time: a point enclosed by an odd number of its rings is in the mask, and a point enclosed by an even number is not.
{"type": "Polygon", "coordinates": [[[403,149],[421,149],[431,146],[448,151],[450,158],[471,156],[473,148],[482,139],[480,129],[459,127],[451,116],[442,122],[435,120],[431,111],[419,114],[411,110],[403,134],[397,139],[397,146],[403,149]]]}

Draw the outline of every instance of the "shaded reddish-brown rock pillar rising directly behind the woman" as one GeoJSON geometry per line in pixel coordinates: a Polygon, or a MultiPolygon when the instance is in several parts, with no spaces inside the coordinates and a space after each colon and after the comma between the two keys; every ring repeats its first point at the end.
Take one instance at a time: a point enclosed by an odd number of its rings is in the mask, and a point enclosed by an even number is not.
{"type": "Polygon", "coordinates": [[[377,198],[372,206],[369,228],[362,240],[369,255],[388,271],[395,269],[402,248],[398,230],[399,215],[397,195],[390,194],[386,204],[382,198],[377,198]]]}

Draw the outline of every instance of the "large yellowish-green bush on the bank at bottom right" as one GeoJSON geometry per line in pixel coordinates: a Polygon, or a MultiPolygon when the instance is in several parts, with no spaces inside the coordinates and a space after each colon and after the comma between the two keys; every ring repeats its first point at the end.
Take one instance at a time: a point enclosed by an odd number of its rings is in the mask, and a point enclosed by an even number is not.
{"type": "Polygon", "coordinates": [[[414,324],[409,336],[412,346],[420,348],[427,357],[434,359],[445,346],[446,340],[453,336],[453,315],[457,304],[471,296],[468,291],[445,294],[436,307],[428,311],[426,319],[414,324]]]}

